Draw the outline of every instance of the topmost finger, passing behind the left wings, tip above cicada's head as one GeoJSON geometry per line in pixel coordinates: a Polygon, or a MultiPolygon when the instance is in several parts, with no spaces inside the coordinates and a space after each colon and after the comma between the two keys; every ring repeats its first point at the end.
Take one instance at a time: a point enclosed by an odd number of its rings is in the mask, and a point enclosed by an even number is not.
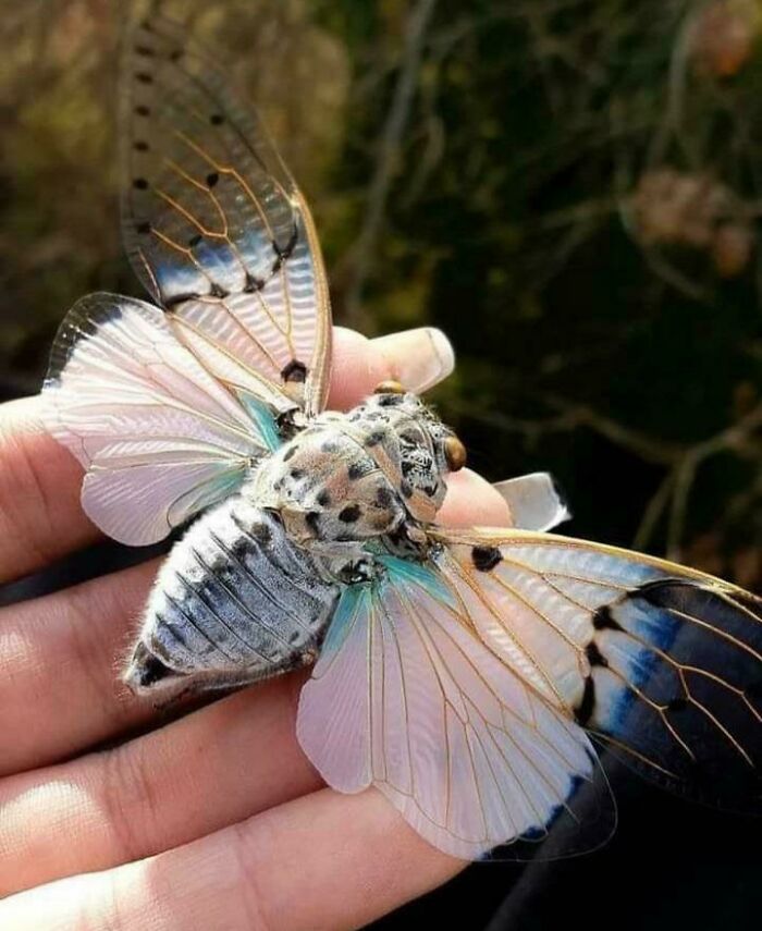
{"type": "MultiPolygon", "coordinates": [[[[390,378],[422,391],[450,375],[446,336],[433,328],[368,340],[335,329],[330,403],[351,407],[390,378]]],[[[99,531],[79,505],[82,467],[42,426],[45,399],[0,406],[0,584],[91,543],[99,531]]]]}

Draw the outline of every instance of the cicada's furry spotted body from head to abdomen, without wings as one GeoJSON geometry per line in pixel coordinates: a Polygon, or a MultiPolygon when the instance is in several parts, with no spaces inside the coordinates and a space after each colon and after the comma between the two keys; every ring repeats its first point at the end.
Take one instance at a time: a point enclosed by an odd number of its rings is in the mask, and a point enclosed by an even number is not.
{"type": "Polygon", "coordinates": [[[425,539],[453,434],[411,394],[321,415],[251,469],[172,550],[126,672],[136,691],[255,682],[314,661],[368,540],[425,539]]]}

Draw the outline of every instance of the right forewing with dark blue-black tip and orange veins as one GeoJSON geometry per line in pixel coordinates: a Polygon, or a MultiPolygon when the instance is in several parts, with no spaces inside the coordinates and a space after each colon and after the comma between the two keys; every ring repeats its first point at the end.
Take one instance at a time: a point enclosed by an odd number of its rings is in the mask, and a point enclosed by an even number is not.
{"type": "Polygon", "coordinates": [[[762,806],[762,600],[648,556],[545,534],[438,531],[479,636],[646,775],[762,806]]]}

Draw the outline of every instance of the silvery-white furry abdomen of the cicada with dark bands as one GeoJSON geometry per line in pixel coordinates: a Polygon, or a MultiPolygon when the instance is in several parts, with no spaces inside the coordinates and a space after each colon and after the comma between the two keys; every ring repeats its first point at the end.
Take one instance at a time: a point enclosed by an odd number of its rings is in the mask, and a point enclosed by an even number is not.
{"type": "Polygon", "coordinates": [[[174,547],[148,602],[126,682],[186,678],[213,688],[254,682],[315,654],[335,585],[280,519],[235,495],[174,547]]]}

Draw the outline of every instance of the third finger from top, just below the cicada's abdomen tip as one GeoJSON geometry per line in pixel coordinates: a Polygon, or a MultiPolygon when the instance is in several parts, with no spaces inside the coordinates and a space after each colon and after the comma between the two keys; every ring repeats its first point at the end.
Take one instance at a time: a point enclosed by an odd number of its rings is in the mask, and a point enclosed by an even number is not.
{"type": "Polygon", "coordinates": [[[143,859],[320,787],[296,740],[307,674],[239,691],[113,749],[0,780],[0,897],[143,859]]]}

